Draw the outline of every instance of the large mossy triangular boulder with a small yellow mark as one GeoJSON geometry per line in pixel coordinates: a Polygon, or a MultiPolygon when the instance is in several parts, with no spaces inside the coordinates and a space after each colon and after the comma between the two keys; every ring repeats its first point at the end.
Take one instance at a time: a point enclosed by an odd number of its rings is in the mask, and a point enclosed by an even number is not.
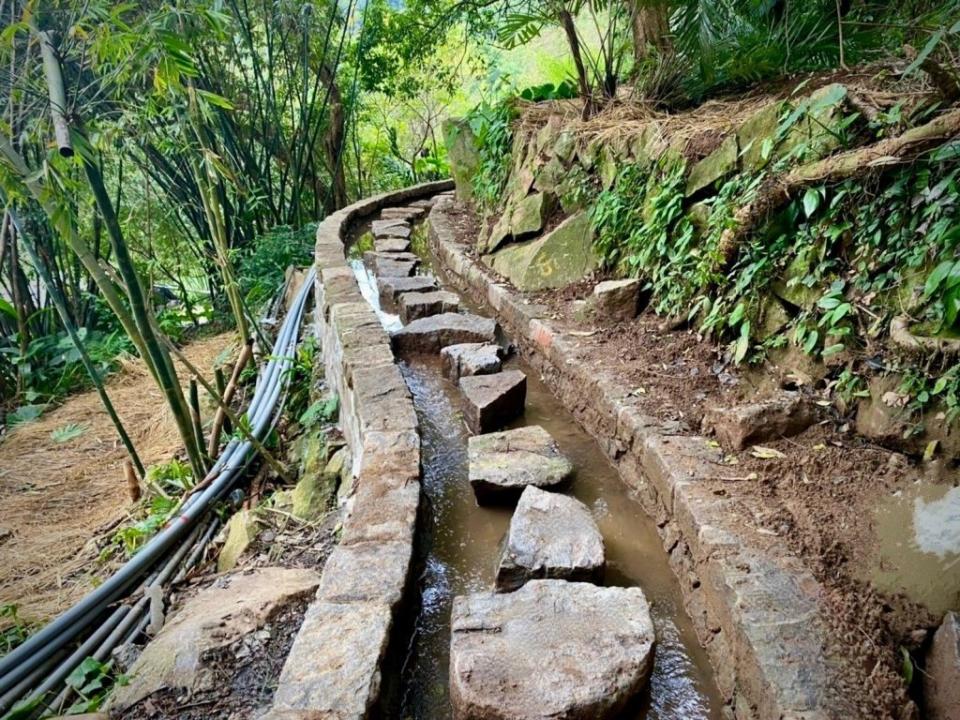
{"type": "Polygon", "coordinates": [[[590,218],[578,212],[543,237],[509,245],[484,261],[525,292],[569,285],[597,269],[590,218]]]}

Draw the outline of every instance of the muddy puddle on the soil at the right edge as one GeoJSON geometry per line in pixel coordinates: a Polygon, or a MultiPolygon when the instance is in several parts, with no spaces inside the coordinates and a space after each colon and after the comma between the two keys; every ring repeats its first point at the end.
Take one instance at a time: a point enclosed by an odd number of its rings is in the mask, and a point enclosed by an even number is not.
{"type": "Polygon", "coordinates": [[[875,512],[876,586],[941,614],[960,607],[960,487],[917,482],[875,512]]]}

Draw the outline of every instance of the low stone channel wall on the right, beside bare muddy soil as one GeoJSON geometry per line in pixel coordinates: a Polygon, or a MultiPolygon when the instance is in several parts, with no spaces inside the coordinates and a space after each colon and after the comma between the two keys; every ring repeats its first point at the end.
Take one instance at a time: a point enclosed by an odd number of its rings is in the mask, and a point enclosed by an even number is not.
{"type": "Polygon", "coordinates": [[[525,360],[596,438],[655,519],[701,643],[710,654],[726,717],[850,718],[843,668],[830,649],[822,588],[785,545],[737,521],[717,480],[735,468],[706,438],[680,435],[633,405],[631,388],[587,365],[576,338],[551,327],[545,309],[489,274],[456,240],[446,201],[429,217],[439,268],[490,305],[525,360]]]}

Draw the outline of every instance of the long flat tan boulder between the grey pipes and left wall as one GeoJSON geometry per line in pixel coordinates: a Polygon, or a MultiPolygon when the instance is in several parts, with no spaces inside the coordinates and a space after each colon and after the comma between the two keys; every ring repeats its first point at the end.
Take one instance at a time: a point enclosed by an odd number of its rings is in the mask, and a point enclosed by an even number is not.
{"type": "Polygon", "coordinates": [[[166,688],[187,694],[213,680],[204,660],[229,652],[230,646],[271,622],[282,609],[307,600],[320,583],[313,570],[262,567],[218,578],[188,599],[144,648],[117,685],[111,714],[125,716],[130,707],[166,688]]]}

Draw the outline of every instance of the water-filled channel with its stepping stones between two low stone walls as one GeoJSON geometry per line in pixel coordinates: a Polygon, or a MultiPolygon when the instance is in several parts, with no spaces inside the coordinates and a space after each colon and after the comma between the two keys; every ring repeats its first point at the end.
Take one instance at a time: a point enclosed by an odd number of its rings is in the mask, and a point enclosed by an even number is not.
{"type": "Polygon", "coordinates": [[[348,250],[419,421],[423,499],[393,712],[720,717],[652,521],[489,309],[437,281],[417,222],[427,204],[367,219],[348,250]]]}

